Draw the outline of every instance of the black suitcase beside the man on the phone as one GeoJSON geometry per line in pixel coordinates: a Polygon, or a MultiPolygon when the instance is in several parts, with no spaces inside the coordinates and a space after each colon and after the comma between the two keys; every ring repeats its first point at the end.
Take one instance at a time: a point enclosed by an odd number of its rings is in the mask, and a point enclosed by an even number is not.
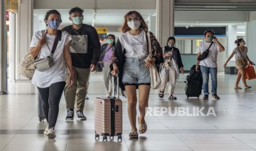
{"type": "Polygon", "coordinates": [[[189,75],[186,77],[186,87],[185,92],[188,97],[198,97],[201,95],[201,90],[203,86],[203,76],[199,71],[195,71],[195,65],[190,69],[189,75]]]}

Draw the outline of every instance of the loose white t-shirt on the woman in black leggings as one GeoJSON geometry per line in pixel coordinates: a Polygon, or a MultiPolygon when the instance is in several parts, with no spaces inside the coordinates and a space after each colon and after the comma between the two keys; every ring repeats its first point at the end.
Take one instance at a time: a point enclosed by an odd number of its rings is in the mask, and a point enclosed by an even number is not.
{"type": "MultiPolygon", "coordinates": [[[[30,47],[35,47],[41,39],[41,31],[34,33],[30,47]]],[[[55,35],[46,34],[46,42],[52,50],[55,35]]],[[[32,77],[32,84],[39,88],[47,88],[53,83],[66,81],[66,64],[64,60],[64,46],[71,40],[67,32],[62,32],[61,41],[58,41],[57,48],[53,54],[53,66],[47,71],[40,72],[35,70],[32,77]]],[[[51,54],[46,44],[43,44],[39,58],[45,58],[51,54]]]]}

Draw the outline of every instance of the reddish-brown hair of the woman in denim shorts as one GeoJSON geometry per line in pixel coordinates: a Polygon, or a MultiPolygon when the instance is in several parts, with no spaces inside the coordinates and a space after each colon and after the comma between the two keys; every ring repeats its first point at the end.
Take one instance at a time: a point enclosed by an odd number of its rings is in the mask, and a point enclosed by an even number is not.
{"type": "Polygon", "coordinates": [[[124,15],[124,22],[123,22],[123,26],[121,27],[121,32],[125,33],[130,30],[130,27],[127,25],[127,19],[132,14],[135,14],[140,19],[141,24],[140,24],[139,28],[141,28],[144,31],[148,31],[149,27],[148,27],[148,25],[146,25],[146,22],[143,19],[143,17],[141,16],[141,14],[138,11],[132,10],[132,11],[129,11],[126,15],[124,15]]]}

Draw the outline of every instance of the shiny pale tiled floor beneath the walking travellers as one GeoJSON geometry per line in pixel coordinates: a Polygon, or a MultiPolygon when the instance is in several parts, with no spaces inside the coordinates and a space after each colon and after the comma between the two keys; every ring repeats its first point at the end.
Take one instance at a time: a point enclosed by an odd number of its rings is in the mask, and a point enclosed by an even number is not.
{"type": "MultiPolygon", "coordinates": [[[[66,123],[62,98],[56,125],[57,137],[47,140],[42,134],[46,123],[37,117],[36,89],[30,83],[9,83],[9,94],[0,95],[0,150],[256,150],[256,83],[250,90],[234,90],[235,75],[219,73],[219,96],[203,101],[184,95],[184,78],[177,83],[178,100],[159,99],[157,91],[150,94],[150,107],[192,109],[213,107],[216,116],[148,116],[148,132],[138,141],[130,141],[127,101],[123,100],[123,141],[95,141],[93,98],[104,96],[100,74],[91,75],[89,98],[84,113],[88,120],[66,123]],[[226,112],[226,113],[224,113],[226,112]]],[[[242,85],[241,85],[242,86],[242,85]]],[[[191,110],[190,110],[191,109],[191,110]]]]}

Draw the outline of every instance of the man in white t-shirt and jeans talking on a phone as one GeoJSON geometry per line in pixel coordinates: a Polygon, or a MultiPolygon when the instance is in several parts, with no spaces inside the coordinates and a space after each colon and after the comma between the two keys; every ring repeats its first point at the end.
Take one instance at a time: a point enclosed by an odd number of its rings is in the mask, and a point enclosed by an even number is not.
{"type": "Polygon", "coordinates": [[[204,89],[204,97],[203,100],[208,100],[209,97],[209,74],[211,75],[211,93],[213,94],[213,97],[216,100],[219,100],[220,97],[217,96],[217,54],[222,51],[225,51],[225,48],[221,43],[217,40],[217,38],[214,36],[213,31],[205,31],[204,32],[204,38],[205,40],[200,43],[198,47],[198,56],[200,56],[201,53],[203,53],[205,50],[207,50],[211,43],[211,47],[209,48],[209,54],[208,56],[201,61],[197,60],[196,63],[196,70],[199,69],[203,75],[203,89],[204,89]]]}

